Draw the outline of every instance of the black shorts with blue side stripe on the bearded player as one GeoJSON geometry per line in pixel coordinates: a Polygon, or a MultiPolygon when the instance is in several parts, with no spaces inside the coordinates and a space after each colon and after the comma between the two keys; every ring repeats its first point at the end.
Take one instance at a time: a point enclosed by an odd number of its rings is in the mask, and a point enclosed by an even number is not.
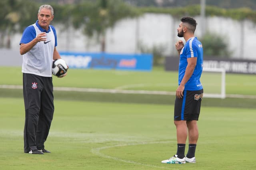
{"type": "Polygon", "coordinates": [[[198,91],[184,90],[184,96],[181,99],[176,97],[174,121],[198,121],[203,93],[203,89],[198,91]]]}

